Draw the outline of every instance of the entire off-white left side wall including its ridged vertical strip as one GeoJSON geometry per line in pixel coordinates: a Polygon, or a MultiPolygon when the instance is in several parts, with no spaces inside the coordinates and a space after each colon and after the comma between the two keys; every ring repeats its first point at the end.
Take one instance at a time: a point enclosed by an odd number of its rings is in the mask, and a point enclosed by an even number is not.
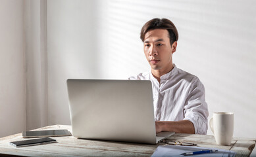
{"type": "Polygon", "coordinates": [[[46,0],[0,5],[0,137],[47,126],[46,0]]]}

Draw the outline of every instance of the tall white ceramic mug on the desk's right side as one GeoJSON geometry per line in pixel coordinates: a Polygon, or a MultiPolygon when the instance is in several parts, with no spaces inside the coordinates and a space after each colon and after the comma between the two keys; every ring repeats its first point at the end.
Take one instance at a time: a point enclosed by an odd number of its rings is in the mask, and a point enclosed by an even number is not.
{"type": "Polygon", "coordinates": [[[217,145],[230,145],[234,132],[234,113],[213,113],[210,128],[217,145]]]}

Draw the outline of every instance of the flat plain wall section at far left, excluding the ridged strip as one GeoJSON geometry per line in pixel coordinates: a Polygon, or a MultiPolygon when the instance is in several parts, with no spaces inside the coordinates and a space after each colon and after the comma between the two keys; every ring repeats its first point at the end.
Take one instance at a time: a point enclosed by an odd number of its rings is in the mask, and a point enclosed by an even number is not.
{"type": "Polygon", "coordinates": [[[0,137],[26,130],[24,1],[0,5],[0,137]]]}

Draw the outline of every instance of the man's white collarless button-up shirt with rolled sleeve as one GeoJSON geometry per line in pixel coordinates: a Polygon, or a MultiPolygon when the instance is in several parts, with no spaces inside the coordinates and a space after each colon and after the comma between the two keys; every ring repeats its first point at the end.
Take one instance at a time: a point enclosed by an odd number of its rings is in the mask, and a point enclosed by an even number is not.
{"type": "Polygon", "coordinates": [[[155,121],[190,120],[195,133],[207,133],[209,113],[205,88],[197,77],[174,65],[172,71],[160,77],[160,83],[151,71],[129,79],[151,80],[155,121]]]}

